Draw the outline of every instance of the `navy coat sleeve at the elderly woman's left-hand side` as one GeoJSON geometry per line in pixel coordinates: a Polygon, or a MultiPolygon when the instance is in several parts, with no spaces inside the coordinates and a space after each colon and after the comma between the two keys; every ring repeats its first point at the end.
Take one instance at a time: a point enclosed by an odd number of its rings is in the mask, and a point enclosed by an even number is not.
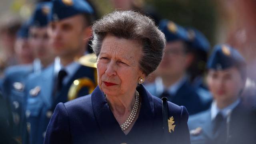
{"type": "Polygon", "coordinates": [[[46,130],[44,144],[70,144],[70,126],[64,104],[57,104],[46,130]]]}

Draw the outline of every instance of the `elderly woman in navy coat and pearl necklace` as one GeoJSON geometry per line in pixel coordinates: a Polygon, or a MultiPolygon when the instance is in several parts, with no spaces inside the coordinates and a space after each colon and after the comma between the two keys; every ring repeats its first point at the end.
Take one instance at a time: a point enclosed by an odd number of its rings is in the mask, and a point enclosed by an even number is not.
{"type": "Polygon", "coordinates": [[[142,85],[160,63],[166,43],[154,22],[117,11],[92,28],[98,86],[91,95],[56,106],[44,143],[190,143],[186,108],[168,102],[166,116],[162,100],[142,85]]]}

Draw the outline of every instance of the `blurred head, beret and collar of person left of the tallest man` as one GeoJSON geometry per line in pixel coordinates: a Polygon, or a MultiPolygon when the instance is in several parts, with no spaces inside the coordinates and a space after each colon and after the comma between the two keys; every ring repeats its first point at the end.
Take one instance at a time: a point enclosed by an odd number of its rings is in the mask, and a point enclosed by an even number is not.
{"type": "Polygon", "coordinates": [[[42,69],[52,64],[55,58],[47,33],[51,7],[51,2],[38,3],[29,20],[28,40],[35,57],[34,69],[36,73],[40,73],[42,69]]]}

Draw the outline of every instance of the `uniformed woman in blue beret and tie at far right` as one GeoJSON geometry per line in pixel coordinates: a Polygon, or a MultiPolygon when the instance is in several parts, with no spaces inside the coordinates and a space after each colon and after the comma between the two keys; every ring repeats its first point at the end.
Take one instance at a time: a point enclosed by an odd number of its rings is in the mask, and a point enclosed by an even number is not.
{"type": "Polygon", "coordinates": [[[214,47],[207,64],[211,108],[188,121],[192,144],[255,144],[256,113],[242,104],[246,62],[227,44],[214,47]]]}

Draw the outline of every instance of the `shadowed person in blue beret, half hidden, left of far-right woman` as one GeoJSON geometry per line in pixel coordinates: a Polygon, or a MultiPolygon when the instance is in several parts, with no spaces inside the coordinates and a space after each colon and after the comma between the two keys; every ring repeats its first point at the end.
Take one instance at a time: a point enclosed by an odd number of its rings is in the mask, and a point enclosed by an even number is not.
{"type": "Polygon", "coordinates": [[[205,84],[206,61],[210,51],[210,43],[199,30],[187,28],[189,43],[191,49],[192,62],[188,66],[187,74],[191,85],[196,90],[200,98],[207,102],[206,107],[210,107],[212,95],[205,84]]]}

